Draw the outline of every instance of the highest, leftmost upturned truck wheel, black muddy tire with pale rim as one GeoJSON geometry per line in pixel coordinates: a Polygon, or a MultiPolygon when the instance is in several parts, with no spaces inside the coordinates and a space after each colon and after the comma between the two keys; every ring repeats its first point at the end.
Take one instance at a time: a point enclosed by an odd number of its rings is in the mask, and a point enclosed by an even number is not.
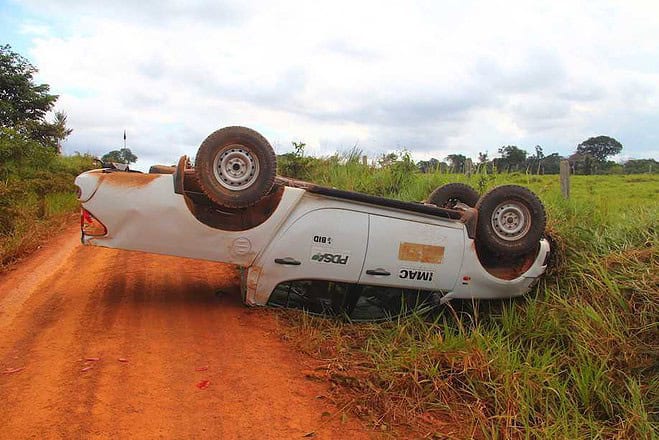
{"type": "Polygon", "coordinates": [[[226,127],[202,142],[195,173],[213,202],[227,208],[246,208],[272,189],[277,158],[270,143],[256,131],[226,127]]]}

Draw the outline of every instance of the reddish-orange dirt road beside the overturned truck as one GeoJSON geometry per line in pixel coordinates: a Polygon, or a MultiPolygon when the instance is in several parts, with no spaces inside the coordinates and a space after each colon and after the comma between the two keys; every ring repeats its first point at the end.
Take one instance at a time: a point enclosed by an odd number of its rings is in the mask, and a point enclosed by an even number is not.
{"type": "Polygon", "coordinates": [[[51,241],[0,275],[0,437],[368,438],[237,284],[228,265],[51,241]]]}

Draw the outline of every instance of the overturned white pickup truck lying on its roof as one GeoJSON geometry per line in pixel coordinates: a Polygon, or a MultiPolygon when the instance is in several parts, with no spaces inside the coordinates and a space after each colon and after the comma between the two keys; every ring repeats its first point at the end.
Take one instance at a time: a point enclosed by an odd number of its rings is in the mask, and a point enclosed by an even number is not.
{"type": "Polygon", "coordinates": [[[270,144],[227,127],[191,167],[99,169],[76,179],[82,242],[233,263],[248,305],[380,319],[451,298],[524,294],[546,269],[545,212],[507,185],[463,184],[427,203],[276,176],[270,144]]]}

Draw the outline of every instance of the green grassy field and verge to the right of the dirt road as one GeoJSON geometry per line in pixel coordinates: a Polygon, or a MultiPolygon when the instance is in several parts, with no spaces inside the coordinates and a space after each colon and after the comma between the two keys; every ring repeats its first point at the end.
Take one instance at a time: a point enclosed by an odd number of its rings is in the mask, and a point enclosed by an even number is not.
{"type": "MultiPolygon", "coordinates": [[[[398,169],[396,169],[398,166],[398,169]]],[[[291,312],[347,408],[382,430],[437,438],[654,438],[659,420],[659,176],[418,174],[316,164],[314,181],[404,200],[463,181],[535,191],[551,270],[526,297],[354,325],[291,312]]]]}

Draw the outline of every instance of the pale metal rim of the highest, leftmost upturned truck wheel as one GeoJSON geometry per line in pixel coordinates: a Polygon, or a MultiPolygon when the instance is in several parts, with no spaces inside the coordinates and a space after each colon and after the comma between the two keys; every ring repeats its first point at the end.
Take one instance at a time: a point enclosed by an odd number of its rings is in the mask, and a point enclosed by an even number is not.
{"type": "Polygon", "coordinates": [[[228,145],[215,155],[213,174],[223,187],[231,191],[241,191],[256,182],[259,160],[243,145],[228,145]]]}

